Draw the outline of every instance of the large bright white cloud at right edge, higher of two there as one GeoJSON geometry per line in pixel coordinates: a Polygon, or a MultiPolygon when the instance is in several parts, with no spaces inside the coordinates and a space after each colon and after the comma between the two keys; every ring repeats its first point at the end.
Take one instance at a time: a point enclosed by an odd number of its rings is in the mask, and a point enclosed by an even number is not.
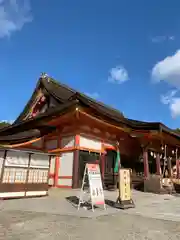
{"type": "Polygon", "coordinates": [[[152,69],[152,78],[157,82],[166,81],[180,88],[180,50],[155,64],[152,69]]]}

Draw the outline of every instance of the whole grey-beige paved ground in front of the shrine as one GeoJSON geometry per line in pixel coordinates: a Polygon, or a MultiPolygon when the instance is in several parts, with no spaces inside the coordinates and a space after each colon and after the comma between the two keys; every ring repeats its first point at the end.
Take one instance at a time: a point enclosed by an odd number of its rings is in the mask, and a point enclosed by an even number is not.
{"type": "MultiPolygon", "coordinates": [[[[95,214],[84,209],[78,213],[65,200],[70,195],[77,192],[3,202],[0,239],[180,239],[179,197],[133,192],[135,209],[114,211],[109,207],[104,215],[99,209],[95,214]]],[[[116,193],[105,195],[110,200],[116,197],[116,193]]]]}

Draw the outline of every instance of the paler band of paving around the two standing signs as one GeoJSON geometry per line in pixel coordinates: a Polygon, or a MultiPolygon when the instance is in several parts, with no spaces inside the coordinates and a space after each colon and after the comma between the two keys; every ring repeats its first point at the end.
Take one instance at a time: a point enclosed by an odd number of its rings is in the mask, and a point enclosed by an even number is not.
{"type": "MultiPolygon", "coordinates": [[[[107,206],[107,210],[102,208],[91,210],[81,208],[77,211],[66,200],[69,196],[79,196],[79,190],[50,190],[49,197],[29,198],[3,201],[0,204],[2,210],[20,210],[20,211],[35,211],[41,213],[52,213],[61,215],[70,215],[75,217],[95,218],[104,215],[113,215],[125,211],[127,214],[139,215],[163,220],[179,221],[180,222],[180,197],[171,195],[157,195],[152,193],[142,193],[132,191],[132,198],[135,203],[134,209],[118,210],[107,206]]],[[[115,201],[118,193],[105,191],[105,199],[115,201]]]]}

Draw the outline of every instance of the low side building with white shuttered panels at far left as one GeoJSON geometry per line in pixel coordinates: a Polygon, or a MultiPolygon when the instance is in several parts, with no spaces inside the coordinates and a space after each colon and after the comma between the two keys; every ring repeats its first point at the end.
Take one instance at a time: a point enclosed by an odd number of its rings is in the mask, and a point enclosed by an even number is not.
{"type": "Polygon", "coordinates": [[[46,196],[49,163],[40,151],[0,148],[0,199],[46,196]]]}

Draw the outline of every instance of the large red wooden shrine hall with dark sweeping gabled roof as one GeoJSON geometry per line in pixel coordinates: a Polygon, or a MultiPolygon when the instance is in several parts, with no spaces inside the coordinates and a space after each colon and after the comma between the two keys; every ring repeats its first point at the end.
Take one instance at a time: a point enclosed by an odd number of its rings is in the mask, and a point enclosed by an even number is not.
{"type": "MultiPolygon", "coordinates": [[[[143,184],[151,191],[152,184],[144,184],[150,176],[180,176],[180,135],[162,123],[127,119],[47,74],[40,76],[15,122],[0,130],[0,144],[19,154],[26,149],[53,155],[48,180],[52,187],[79,188],[85,164],[95,161],[100,164],[104,186],[116,185],[117,151],[121,166],[132,169],[134,187],[143,184]]],[[[2,173],[0,164],[0,191],[7,184],[2,173]]],[[[16,189],[16,182],[10,183],[16,189]]]]}

